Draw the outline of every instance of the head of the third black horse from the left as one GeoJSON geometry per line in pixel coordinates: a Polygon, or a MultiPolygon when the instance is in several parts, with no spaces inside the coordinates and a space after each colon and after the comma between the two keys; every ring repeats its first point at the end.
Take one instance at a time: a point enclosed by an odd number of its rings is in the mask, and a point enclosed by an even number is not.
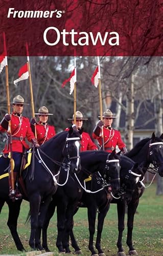
{"type": "Polygon", "coordinates": [[[142,167],[125,156],[121,156],[121,188],[119,194],[125,198],[127,204],[131,201],[135,187],[144,173],[142,167]]]}

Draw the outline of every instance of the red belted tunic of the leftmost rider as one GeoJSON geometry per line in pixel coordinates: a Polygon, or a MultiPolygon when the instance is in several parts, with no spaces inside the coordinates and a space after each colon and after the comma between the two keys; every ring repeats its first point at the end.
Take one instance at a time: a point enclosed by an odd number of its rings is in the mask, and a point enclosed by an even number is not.
{"type": "MultiPolygon", "coordinates": [[[[7,130],[4,129],[0,124],[0,131],[6,132],[7,130]]],[[[31,140],[35,138],[31,130],[31,124],[29,119],[21,115],[17,116],[13,113],[11,115],[11,134],[13,136],[13,140],[12,140],[13,152],[22,153],[24,151],[24,147],[29,148],[29,145],[26,143],[25,138],[27,138],[29,142],[31,142],[31,140]],[[16,137],[18,139],[15,139],[16,137]]],[[[8,146],[7,144],[8,143],[6,143],[5,148],[3,150],[5,154],[10,152],[10,145],[8,146]]]]}

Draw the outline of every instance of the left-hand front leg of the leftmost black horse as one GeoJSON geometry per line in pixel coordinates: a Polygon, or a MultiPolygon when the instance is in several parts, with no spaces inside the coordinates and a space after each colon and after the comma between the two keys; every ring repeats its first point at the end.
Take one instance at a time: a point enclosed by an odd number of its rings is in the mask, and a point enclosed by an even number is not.
{"type": "Polygon", "coordinates": [[[31,212],[31,234],[30,234],[30,240],[29,245],[32,249],[35,248],[35,235],[36,230],[38,227],[38,214],[39,214],[39,208],[40,208],[40,202],[41,202],[41,196],[37,194],[32,194],[31,197],[29,197],[30,201],[30,212],[31,212]]]}

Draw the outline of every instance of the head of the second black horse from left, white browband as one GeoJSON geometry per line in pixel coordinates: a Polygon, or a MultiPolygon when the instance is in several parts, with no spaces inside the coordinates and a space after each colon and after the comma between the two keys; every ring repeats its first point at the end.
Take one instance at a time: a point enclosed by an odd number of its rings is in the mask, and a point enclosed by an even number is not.
{"type": "Polygon", "coordinates": [[[120,189],[120,159],[113,151],[107,155],[107,160],[104,168],[104,178],[110,183],[112,193],[117,193],[120,189]]]}

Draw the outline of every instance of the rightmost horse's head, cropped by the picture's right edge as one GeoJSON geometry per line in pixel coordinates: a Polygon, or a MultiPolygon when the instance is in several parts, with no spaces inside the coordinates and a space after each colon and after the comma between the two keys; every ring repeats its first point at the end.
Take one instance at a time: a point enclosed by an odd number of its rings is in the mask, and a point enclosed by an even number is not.
{"type": "Polygon", "coordinates": [[[160,137],[152,134],[149,142],[148,162],[152,163],[159,175],[163,177],[163,134],[160,137]]]}

